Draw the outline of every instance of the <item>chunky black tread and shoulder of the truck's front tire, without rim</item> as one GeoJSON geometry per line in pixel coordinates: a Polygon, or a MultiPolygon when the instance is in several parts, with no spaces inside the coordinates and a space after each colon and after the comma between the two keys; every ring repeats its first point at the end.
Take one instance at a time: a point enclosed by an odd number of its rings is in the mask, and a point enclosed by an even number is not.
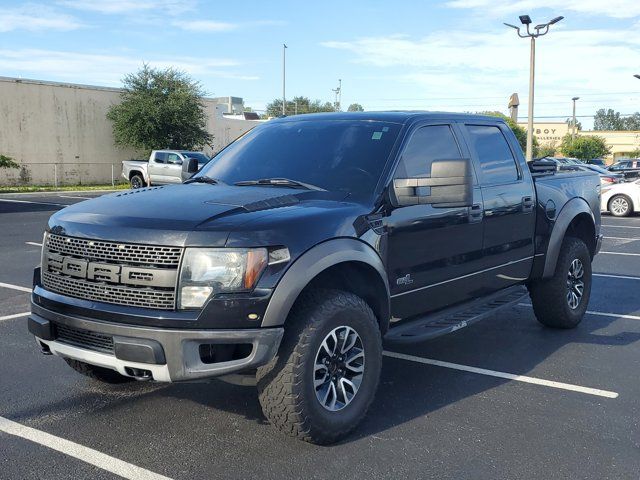
{"type": "MultiPolygon", "coordinates": [[[[356,308],[366,313],[372,327],[379,331],[378,321],[367,303],[349,292],[315,289],[303,292],[296,301],[286,322],[286,334],[276,357],[258,369],[256,379],[262,410],[267,419],[282,433],[300,440],[326,445],[348,435],[363,419],[368,410],[363,409],[358,419],[348,428],[339,431],[312,429],[305,412],[302,380],[296,379],[296,367],[301,364],[303,353],[318,330],[321,318],[331,315],[333,309],[356,308]]],[[[382,339],[376,337],[382,350],[382,339]]],[[[376,380],[377,382],[378,380],[376,380]]],[[[377,383],[374,391],[377,389],[377,383]]]]}

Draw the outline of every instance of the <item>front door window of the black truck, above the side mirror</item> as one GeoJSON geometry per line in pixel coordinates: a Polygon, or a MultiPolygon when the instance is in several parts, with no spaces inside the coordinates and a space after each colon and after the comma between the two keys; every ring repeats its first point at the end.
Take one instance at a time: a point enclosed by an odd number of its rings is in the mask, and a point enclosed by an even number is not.
{"type": "Polygon", "coordinates": [[[434,160],[462,158],[460,148],[448,125],[419,128],[402,152],[397,178],[428,177],[434,160]]]}

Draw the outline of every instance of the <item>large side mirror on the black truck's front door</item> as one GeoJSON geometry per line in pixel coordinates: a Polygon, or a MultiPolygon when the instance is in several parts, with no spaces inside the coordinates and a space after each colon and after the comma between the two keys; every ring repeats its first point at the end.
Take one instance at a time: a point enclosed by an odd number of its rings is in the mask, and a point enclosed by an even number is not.
{"type": "Polygon", "coordinates": [[[391,189],[394,206],[468,207],[473,203],[471,160],[434,160],[430,177],[396,178],[391,189]]]}

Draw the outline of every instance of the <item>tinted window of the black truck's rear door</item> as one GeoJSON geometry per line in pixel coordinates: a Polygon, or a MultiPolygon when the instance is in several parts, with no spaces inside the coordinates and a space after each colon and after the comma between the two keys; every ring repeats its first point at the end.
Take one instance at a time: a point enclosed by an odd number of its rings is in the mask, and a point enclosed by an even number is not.
{"type": "Polygon", "coordinates": [[[514,182],[519,179],[518,167],[507,139],[498,127],[467,125],[471,148],[476,151],[484,183],[514,182]]]}

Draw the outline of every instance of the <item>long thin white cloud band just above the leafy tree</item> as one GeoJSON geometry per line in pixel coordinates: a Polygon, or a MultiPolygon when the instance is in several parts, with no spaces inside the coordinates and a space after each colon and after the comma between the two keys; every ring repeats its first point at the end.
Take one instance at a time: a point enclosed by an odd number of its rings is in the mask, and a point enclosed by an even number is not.
{"type": "Polygon", "coordinates": [[[207,77],[234,80],[258,80],[257,76],[236,71],[240,63],[225,58],[133,58],[109,54],[85,54],[53,50],[0,49],[0,71],[40,80],[61,80],[118,87],[122,78],[143,64],[152,67],[174,67],[198,80],[207,77]]]}

